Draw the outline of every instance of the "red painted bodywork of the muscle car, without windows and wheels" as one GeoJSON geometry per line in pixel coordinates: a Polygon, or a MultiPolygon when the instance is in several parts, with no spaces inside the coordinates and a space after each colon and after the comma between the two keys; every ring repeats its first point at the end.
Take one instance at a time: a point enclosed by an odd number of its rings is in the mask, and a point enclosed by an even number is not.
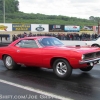
{"type": "Polygon", "coordinates": [[[72,68],[87,67],[86,64],[79,64],[82,60],[82,54],[100,51],[99,48],[91,47],[57,47],[48,46],[41,47],[38,43],[38,39],[46,37],[26,37],[18,39],[12,42],[7,47],[0,48],[0,59],[4,54],[10,55],[16,63],[25,64],[27,66],[39,66],[45,68],[52,68],[50,62],[53,58],[64,58],[68,60],[72,68]],[[20,48],[16,47],[15,44],[23,39],[34,39],[39,48],[20,48]],[[20,50],[20,52],[17,52],[20,50]]]}

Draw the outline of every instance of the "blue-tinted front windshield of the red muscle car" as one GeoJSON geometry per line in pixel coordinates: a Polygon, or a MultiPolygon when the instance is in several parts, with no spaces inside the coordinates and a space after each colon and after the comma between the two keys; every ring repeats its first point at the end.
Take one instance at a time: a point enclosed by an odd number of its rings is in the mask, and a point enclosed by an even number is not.
{"type": "Polygon", "coordinates": [[[38,40],[41,46],[63,46],[64,44],[57,38],[42,38],[38,40]]]}

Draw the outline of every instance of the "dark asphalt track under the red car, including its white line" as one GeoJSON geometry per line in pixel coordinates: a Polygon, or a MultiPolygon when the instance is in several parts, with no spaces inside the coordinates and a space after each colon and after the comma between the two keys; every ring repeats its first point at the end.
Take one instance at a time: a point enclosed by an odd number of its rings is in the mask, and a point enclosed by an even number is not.
{"type": "Polygon", "coordinates": [[[51,69],[22,67],[16,71],[7,70],[0,61],[0,99],[100,100],[100,65],[96,65],[89,72],[75,69],[68,80],[61,80],[51,69]],[[8,98],[9,95],[13,99],[8,98]]]}

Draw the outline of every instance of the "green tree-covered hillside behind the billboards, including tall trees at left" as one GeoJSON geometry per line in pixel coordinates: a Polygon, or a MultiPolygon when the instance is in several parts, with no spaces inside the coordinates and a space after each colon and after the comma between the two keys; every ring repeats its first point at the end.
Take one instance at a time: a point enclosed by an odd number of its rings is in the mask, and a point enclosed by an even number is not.
{"type": "MultiPolygon", "coordinates": [[[[18,0],[5,0],[5,22],[6,23],[33,23],[33,24],[62,24],[95,26],[98,25],[100,17],[90,16],[89,19],[68,17],[62,15],[45,15],[24,13],[19,11],[18,0]]],[[[3,23],[3,0],[0,0],[0,23],[3,23]]]]}

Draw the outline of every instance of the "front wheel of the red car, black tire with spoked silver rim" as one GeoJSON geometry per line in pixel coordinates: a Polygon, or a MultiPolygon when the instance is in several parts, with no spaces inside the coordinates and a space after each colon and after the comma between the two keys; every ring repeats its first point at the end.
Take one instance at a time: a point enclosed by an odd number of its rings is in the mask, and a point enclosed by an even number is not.
{"type": "Polygon", "coordinates": [[[53,63],[53,71],[61,79],[68,79],[72,74],[72,68],[65,59],[55,60],[53,63]]]}

